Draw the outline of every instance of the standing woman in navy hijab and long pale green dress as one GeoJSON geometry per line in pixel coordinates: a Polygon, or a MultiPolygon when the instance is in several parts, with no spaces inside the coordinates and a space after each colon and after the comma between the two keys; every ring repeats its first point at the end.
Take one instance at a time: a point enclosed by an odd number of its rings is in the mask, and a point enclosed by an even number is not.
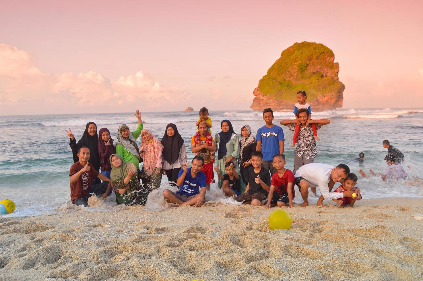
{"type": "MultiPolygon", "coordinates": [[[[226,175],[225,164],[233,162],[235,170],[239,175],[239,138],[232,128],[231,121],[223,120],[220,123],[222,131],[214,137],[216,145],[218,145],[217,154],[217,167],[219,168],[220,175],[226,175]]],[[[222,180],[218,178],[219,188],[222,188],[222,180]]]]}

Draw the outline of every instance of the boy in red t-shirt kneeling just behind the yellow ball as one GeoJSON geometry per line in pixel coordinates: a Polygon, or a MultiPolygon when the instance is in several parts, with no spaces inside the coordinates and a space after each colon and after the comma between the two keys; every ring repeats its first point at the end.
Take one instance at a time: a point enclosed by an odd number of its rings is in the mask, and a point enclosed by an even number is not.
{"type": "Polygon", "coordinates": [[[283,154],[276,154],[273,156],[272,165],[277,169],[277,172],[272,175],[270,182],[269,197],[264,202],[264,208],[278,206],[278,207],[292,207],[292,200],[295,197],[294,191],[294,174],[291,170],[285,169],[286,161],[283,154]]]}

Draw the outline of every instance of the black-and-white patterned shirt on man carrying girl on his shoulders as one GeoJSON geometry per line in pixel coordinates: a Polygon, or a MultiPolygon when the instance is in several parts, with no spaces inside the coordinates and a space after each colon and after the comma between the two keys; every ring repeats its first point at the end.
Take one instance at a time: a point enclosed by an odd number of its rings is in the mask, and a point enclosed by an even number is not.
{"type": "MultiPolygon", "coordinates": [[[[316,126],[316,128],[319,130],[321,126],[316,126]]],[[[295,123],[291,123],[291,125],[289,125],[289,130],[295,131],[295,123]]],[[[311,128],[311,125],[307,125],[305,127],[301,126],[299,129],[295,153],[297,153],[299,157],[305,154],[305,159],[316,158],[316,140],[314,139],[313,128],[311,128]]]]}

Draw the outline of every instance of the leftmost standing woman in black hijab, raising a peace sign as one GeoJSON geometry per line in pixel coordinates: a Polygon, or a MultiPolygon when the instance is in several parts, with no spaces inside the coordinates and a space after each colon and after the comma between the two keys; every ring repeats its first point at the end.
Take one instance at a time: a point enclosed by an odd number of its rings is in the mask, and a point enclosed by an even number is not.
{"type": "MultiPolygon", "coordinates": [[[[97,135],[97,125],[94,122],[88,122],[85,126],[84,134],[82,134],[81,139],[77,142],[75,139],[74,134],[72,134],[71,129],[69,131],[65,130],[69,136],[69,146],[72,149],[72,156],[74,158],[74,163],[79,161],[77,156],[78,149],[82,146],[86,146],[90,149],[90,162],[93,165],[96,171],[100,169],[100,156],[99,156],[99,138],[97,135]]],[[[101,181],[97,178],[93,179],[95,181],[94,184],[101,183],[101,181]]]]}

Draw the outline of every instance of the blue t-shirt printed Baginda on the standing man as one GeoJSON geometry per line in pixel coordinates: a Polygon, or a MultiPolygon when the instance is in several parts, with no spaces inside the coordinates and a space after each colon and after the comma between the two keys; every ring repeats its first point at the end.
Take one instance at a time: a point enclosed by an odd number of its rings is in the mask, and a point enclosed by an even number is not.
{"type": "Polygon", "coordinates": [[[284,141],[283,130],[277,125],[272,128],[267,128],[266,125],[257,130],[257,141],[261,141],[261,153],[263,153],[263,160],[269,161],[273,156],[279,154],[279,141],[284,141]]]}

